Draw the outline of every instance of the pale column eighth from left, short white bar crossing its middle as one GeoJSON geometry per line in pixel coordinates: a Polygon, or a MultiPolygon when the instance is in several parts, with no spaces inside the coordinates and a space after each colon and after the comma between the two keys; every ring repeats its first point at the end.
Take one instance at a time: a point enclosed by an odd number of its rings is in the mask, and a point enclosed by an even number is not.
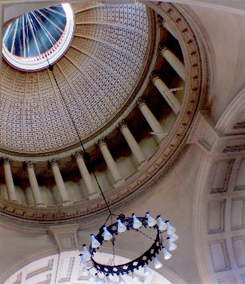
{"type": "Polygon", "coordinates": [[[173,109],[175,114],[178,114],[181,108],[181,104],[175,97],[175,95],[169,91],[168,87],[164,84],[163,80],[161,80],[158,75],[153,74],[151,76],[151,80],[153,84],[157,87],[160,94],[164,97],[166,102],[168,102],[168,105],[171,107],[171,109],[173,109]]]}

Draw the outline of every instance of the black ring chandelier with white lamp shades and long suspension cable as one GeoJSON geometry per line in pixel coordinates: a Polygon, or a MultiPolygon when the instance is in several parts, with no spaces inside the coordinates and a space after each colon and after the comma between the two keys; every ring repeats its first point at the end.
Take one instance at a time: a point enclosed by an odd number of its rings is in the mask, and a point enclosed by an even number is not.
{"type": "MultiPolygon", "coordinates": [[[[45,58],[48,61],[47,55],[45,55],[45,58]]],[[[77,131],[77,127],[75,125],[75,121],[73,121],[72,116],[70,114],[70,111],[67,107],[67,104],[65,102],[65,99],[62,95],[62,92],[60,90],[58,81],[55,77],[55,74],[53,72],[53,65],[50,65],[48,62],[48,70],[53,75],[53,79],[55,80],[55,84],[58,88],[58,92],[60,93],[60,97],[62,97],[62,100],[65,104],[65,107],[67,109],[67,112],[70,116],[70,120],[72,121],[73,126],[75,127],[75,131],[77,133],[77,137],[79,138],[80,144],[82,146],[82,151],[84,153],[84,159],[87,162],[88,168],[91,170],[92,174],[94,175],[94,178],[97,182],[97,185],[99,187],[100,193],[104,199],[104,202],[107,206],[109,215],[107,217],[106,222],[104,225],[99,229],[99,233],[94,236],[94,234],[91,234],[91,244],[89,246],[89,249],[87,249],[87,246],[83,245],[83,253],[80,254],[80,268],[82,268],[82,275],[87,276],[89,282],[94,282],[97,284],[113,284],[114,282],[109,278],[110,276],[117,275],[119,278],[119,284],[126,284],[125,280],[123,279],[123,275],[131,275],[132,280],[135,282],[138,281],[138,275],[135,273],[140,268],[143,268],[143,273],[145,276],[150,275],[151,271],[148,268],[148,263],[150,261],[154,261],[155,268],[161,268],[163,266],[163,263],[158,261],[158,258],[156,257],[160,251],[163,253],[163,259],[169,259],[172,255],[165,249],[165,246],[163,244],[163,241],[168,242],[168,250],[173,251],[177,248],[177,246],[173,243],[178,239],[178,235],[175,234],[175,228],[171,226],[167,221],[163,222],[160,215],[154,219],[151,217],[149,212],[146,212],[145,217],[136,217],[135,214],[132,214],[132,217],[125,217],[124,214],[120,214],[117,216],[116,214],[111,213],[111,209],[109,208],[109,204],[107,203],[106,198],[104,197],[104,193],[102,192],[102,188],[99,185],[99,182],[97,180],[96,175],[94,174],[94,170],[92,168],[92,163],[90,160],[89,153],[85,151],[85,147],[82,143],[82,140],[80,138],[80,135],[77,131]],[[113,223],[113,218],[116,219],[116,222],[113,223]],[[111,224],[107,225],[108,220],[111,219],[111,224]],[[155,239],[151,238],[147,234],[144,234],[140,229],[142,228],[151,228],[156,231],[156,237],[155,239]],[[134,231],[141,233],[145,236],[147,236],[150,239],[153,239],[153,244],[149,249],[147,249],[141,256],[138,258],[135,258],[132,261],[129,261],[124,264],[118,264],[116,265],[113,261],[113,264],[111,266],[105,265],[102,263],[99,263],[95,260],[95,255],[97,250],[99,249],[99,246],[102,246],[104,241],[111,241],[112,247],[113,247],[113,255],[114,255],[114,244],[116,241],[116,236],[119,234],[124,233],[125,231],[134,231]],[[165,236],[164,235],[168,235],[165,236]],[[92,264],[92,267],[89,267],[89,263],[92,264]],[[90,269],[94,268],[96,273],[93,275],[90,272],[90,269]],[[104,280],[105,278],[105,280],[104,280]]]]}

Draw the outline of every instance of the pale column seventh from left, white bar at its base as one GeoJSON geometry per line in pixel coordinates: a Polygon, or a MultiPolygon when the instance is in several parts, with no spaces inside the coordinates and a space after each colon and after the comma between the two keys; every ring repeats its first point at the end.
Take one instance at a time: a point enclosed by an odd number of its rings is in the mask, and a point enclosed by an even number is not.
{"type": "Polygon", "coordinates": [[[158,137],[158,140],[161,141],[163,138],[165,138],[165,133],[163,131],[163,127],[159,124],[156,117],[153,115],[150,109],[146,106],[146,102],[143,99],[138,99],[136,102],[136,107],[141,111],[143,116],[145,117],[146,121],[148,122],[149,126],[151,126],[151,129],[153,132],[156,132],[156,136],[158,137]],[[163,134],[160,134],[163,133],[163,134]]]}

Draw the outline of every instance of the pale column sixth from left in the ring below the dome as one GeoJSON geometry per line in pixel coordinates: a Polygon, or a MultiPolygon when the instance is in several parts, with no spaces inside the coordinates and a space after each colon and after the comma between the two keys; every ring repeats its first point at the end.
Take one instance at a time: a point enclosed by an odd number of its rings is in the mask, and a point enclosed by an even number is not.
{"type": "Polygon", "coordinates": [[[139,148],[138,143],[136,142],[134,136],[132,135],[131,131],[129,130],[129,127],[126,124],[126,121],[121,121],[118,125],[118,128],[121,130],[121,133],[123,133],[124,138],[129,144],[129,148],[131,148],[133,155],[138,160],[138,163],[141,165],[141,163],[146,160],[146,157],[145,155],[143,155],[141,148],[139,148]]]}

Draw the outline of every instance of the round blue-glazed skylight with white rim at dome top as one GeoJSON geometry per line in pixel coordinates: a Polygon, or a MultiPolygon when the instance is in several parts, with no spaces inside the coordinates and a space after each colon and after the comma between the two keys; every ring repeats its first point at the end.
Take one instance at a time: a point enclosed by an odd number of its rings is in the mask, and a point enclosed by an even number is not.
{"type": "Polygon", "coordinates": [[[73,26],[69,4],[25,13],[4,29],[4,57],[23,70],[47,67],[67,49],[73,26]]]}

